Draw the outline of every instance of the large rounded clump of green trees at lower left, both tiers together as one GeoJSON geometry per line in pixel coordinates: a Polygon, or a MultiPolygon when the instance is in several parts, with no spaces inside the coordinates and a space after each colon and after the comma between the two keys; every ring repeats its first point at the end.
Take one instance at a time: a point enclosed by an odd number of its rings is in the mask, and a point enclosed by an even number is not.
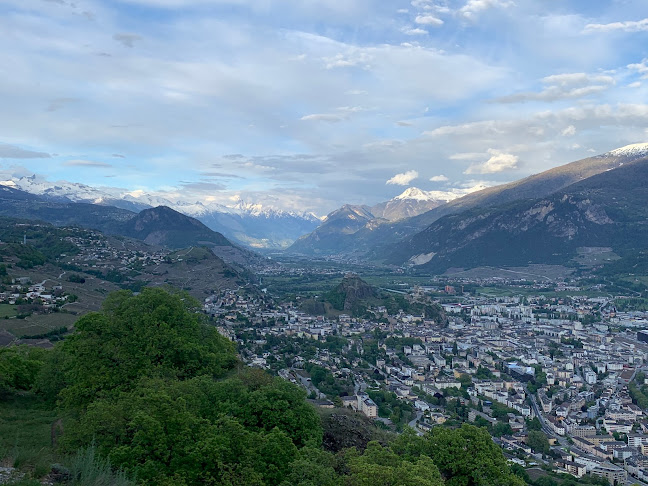
{"type": "Polygon", "coordinates": [[[321,444],[319,416],[300,388],[241,367],[195,306],[161,290],[117,292],[79,321],[50,354],[56,370],[39,377],[75,412],[62,445],[94,442],[144,485],[278,486],[299,448],[321,444]]]}

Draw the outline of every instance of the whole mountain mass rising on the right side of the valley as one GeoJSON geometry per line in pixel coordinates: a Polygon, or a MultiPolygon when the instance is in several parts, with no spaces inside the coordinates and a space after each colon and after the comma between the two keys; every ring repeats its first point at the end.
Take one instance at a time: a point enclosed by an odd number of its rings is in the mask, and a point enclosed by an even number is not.
{"type": "Polygon", "coordinates": [[[565,264],[578,248],[623,253],[643,245],[647,166],[648,144],[635,144],[397,221],[372,217],[369,208],[344,206],[289,251],[435,272],[486,264],[565,264]]]}

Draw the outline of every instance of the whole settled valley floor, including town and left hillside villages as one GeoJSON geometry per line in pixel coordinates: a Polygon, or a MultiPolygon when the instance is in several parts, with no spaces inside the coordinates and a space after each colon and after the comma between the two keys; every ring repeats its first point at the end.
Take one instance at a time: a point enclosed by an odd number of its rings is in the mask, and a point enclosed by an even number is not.
{"type": "Polygon", "coordinates": [[[349,265],[280,258],[242,283],[204,248],[59,231],[68,246],[47,262],[23,251],[26,236],[0,245],[15,253],[0,266],[0,306],[15,311],[0,345],[51,347],[110,291],[167,285],[202,301],[244,362],[301,386],[317,407],[394,432],[485,427],[530,475],[648,480],[648,306],[632,288],[355,268],[372,287],[349,265]],[[340,281],[371,297],[333,308],[340,281]]]}

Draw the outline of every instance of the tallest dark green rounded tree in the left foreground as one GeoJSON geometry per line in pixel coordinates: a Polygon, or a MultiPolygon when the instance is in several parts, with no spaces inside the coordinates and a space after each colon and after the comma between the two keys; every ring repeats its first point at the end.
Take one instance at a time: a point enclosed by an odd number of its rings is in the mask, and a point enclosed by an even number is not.
{"type": "Polygon", "coordinates": [[[110,294],[101,313],[81,318],[63,343],[66,406],[131,391],[142,377],[222,376],[237,362],[232,344],[195,312],[185,294],[144,289],[110,294]]]}

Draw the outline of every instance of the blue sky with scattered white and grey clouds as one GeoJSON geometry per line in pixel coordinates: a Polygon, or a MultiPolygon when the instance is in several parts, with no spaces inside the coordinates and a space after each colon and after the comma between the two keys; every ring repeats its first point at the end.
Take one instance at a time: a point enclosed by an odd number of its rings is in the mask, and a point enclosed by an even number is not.
{"type": "Polygon", "coordinates": [[[0,32],[4,178],[324,215],[648,141],[645,0],[2,0],[0,32]]]}

